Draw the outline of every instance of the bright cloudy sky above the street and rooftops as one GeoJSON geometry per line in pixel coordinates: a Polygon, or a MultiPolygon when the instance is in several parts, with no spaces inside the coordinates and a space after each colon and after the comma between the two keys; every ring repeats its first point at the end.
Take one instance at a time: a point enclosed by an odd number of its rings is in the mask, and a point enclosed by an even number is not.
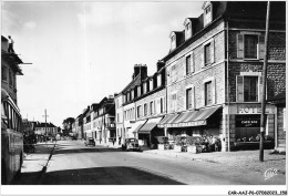
{"type": "Polygon", "coordinates": [[[62,127],[92,103],[120,93],[134,64],[148,75],[169,51],[171,31],[204,1],[2,1],[2,35],[24,63],[17,78],[23,118],[62,127]]]}

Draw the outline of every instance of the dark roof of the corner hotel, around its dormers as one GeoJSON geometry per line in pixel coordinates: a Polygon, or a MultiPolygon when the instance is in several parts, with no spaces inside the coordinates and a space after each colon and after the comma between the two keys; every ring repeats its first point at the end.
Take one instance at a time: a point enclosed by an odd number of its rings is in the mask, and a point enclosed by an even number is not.
{"type": "MultiPolygon", "coordinates": [[[[169,50],[168,54],[163,58],[164,61],[178,53],[187,44],[194,42],[195,39],[198,39],[199,34],[205,30],[212,28],[213,24],[215,24],[218,21],[218,19],[225,19],[225,20],[254,19],[254,20],[263,20],[263,21],[266,20],[267,1],[210,1],[210,3],[213,4],[213,22],[204,27],[203,14],[200,14],[198,18],[195,19],[188,18],[193,20],[192,38],[185,41],[185,39],[183,39],[185,32],[184,31],[182,31],[182,33],[177,32],[177,35],[181,37],[177,39],[177,43],[176,43],[177,48],[174,50],[169,50]]],[[[187,20],[187,18],[185,20],[187,20]]],[[[284,24],[286,23],[285,1],[272,1],[270,3],[271,27],[274,24],[272,22],[277,22],[277,23],[282,22],[284,24]]],[[[279,28],[278,25],[275,27],[279,28]]]]}

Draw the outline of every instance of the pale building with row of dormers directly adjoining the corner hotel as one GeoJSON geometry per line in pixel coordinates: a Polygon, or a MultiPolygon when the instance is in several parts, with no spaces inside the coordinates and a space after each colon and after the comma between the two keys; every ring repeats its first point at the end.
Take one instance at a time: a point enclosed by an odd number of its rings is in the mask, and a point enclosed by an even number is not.
{"type": "Polygon", "coordinates": [[[157,144],[157,136],[164,136],[164,130],[156,125],[166,113],[165,74],[164,62],[157,62],[157,71],[136,85],[134,103],[137,126],[132,132],[142,146],[151,147],[157,144]]]}

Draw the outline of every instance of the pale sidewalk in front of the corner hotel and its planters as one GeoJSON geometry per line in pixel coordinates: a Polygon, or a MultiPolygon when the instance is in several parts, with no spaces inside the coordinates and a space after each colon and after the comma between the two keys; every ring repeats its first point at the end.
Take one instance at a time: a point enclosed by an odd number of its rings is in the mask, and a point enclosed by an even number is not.
{"type": "Polygon", "coordinates": [[[265,149],[264,162],[259,162],[259,151],[237,151],[237,152],[212,152],[212,153],[177,153],[173,149],[148,149],[143,153],[171,158],[196,161],[215,164],[215,166],[241,171],[265,173],[268,168],[276,168],[278,175],[286,174],[286,155],[270,154],[271,149],[265,149]]]}

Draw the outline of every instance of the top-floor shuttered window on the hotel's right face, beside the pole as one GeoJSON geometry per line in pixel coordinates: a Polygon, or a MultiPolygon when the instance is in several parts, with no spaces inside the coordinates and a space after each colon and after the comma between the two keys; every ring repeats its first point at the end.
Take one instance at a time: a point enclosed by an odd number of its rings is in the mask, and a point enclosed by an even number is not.
{"type": "Polygon", "coordinates": [[[238,59],[264,59],[265,45],[264,34],[239,33],[237,34],[237,58],[238,59]]]}

